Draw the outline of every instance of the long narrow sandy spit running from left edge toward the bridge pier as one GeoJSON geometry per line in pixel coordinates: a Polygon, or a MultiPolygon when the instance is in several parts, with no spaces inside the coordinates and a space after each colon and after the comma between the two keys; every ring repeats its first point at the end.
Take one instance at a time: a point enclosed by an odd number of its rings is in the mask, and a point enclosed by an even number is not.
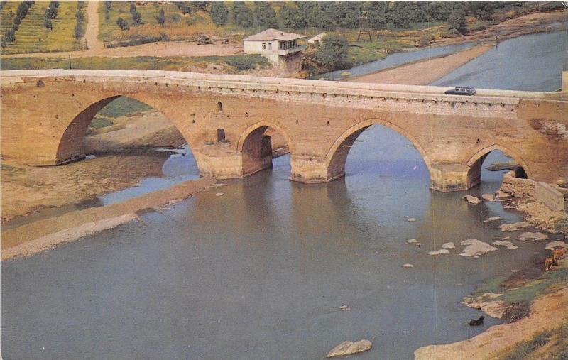
{"type": "Polygon", "coordinates": [[[182,200],[215,184],[213,178],[190,180],[118,204],[70,212],[2,231],[1,258],[29,256],[87,234],[116,227],[136,219],[137,212],[182,200]]]}

